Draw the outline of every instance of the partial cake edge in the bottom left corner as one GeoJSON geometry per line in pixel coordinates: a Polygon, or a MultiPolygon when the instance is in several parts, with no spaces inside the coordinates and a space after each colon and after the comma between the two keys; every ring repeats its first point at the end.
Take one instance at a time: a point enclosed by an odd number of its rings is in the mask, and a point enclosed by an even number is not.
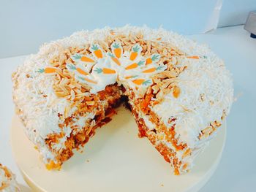
{"type": "Polygon", "coordinates": [[[0,191],[2,192],[18,192],[20,188],[10,169],[0,164],[0,191]]]}

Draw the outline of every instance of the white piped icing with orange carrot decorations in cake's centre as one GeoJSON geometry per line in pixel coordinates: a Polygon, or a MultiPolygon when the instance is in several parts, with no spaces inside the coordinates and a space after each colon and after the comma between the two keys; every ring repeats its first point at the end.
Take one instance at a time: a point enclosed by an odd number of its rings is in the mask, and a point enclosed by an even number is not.
{"type": "MultiPolygon", "coordinates": [[[[160,62],[161,56],[157,53],[148,58],[140,55],[142,47],[135,44],[130,52],[123,53],[119,42],[113,42],[111,51],[105,53],[98,44],[90,47],[93,57],[76,53],[71,58],[74,64],[66,65],[70,72],[75,73],[75,79],[91,85],[92,92],[102,91],[105,86],[121,81],[128,83],[132,88],[148,88],[152,84],[152,75],[163,72],[167,68],[160,62]]],[[[39,72],[55,73],[57,68],[39,69],[39,72]]]]}

